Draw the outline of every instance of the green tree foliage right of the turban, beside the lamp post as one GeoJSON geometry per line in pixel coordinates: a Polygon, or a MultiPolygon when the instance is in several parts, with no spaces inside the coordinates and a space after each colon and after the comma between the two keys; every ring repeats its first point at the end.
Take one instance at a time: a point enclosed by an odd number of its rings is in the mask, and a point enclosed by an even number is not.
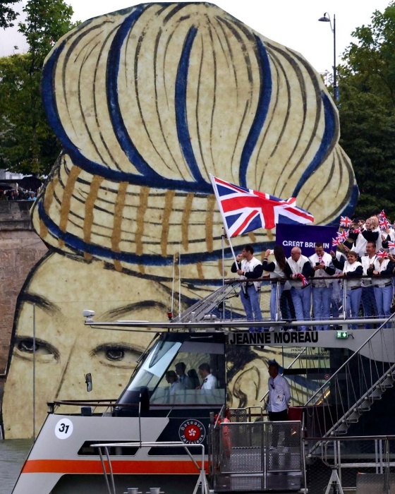
{"type": "Polygon", "coordinates": [[[395,3],[375,11],[339,68],[341,145],[360,188],[356,215],[395,219],[395,3]]]}

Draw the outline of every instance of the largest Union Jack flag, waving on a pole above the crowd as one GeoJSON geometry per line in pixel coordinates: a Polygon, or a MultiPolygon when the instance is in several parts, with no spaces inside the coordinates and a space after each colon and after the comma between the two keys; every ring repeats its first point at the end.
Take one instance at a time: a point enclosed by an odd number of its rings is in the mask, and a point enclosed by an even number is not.
{"type": "Polygon", "coordinates": [[[257,228],[272,229],[277,223],[314,221],[310,212],[296,206],[296,198],[283,200],[212,175],[210,179],[229,238],[257,228]]]}

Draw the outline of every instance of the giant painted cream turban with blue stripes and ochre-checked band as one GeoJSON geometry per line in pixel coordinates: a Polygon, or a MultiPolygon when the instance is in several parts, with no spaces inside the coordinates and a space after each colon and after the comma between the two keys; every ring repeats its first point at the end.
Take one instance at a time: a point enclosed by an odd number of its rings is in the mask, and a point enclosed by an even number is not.
{"type": "MultiPolygon", "coordinates": [[[[56,248],[148,272],[181,251],[192,279],[218,277],[210,173],[296,196],[316,224],[358,198],[320,76],[212,4],[141,4],[87,20],[47,57],[42,95],[63,154],[33,223],[56,248]]],[[[250,238],[257,251],[273,240],[250,238]]]]}

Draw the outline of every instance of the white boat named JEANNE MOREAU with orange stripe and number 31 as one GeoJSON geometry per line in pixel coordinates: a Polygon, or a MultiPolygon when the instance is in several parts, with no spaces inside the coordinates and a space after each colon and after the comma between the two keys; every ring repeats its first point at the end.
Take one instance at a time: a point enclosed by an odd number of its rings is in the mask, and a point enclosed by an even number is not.
{"type": "MultiPolygon", "coordinates": [[[[150,327],[157,335],[116,399],[50,404],[13,494],[314,492],[306,459],[322,454],[322,442],[307,446],[303,437],[347,434],[375,400],[390,396],[394,328],[347,330],[339,320],[339,331],[248,332],[243,326],[251,323],[207,311],[218,293],[169,323],[109,324],[93,322],[89,313],[87,325],[150,327]],[[295,421],[267,422],[263,407],[226,409],[229,355],[243,346],[277,348],[283,356],[297,347],[283,361],[292,409],[300,412],[295,421]],[[172,391],[166,372],[180,362],[191,371],[188,384],[172,391]],[[205,363],[215,386],[196,389],[191,376],[205,363]],[[272,450],[275,434],[282,442],[272,450]]],[[[266,382],[260,386],[263,399],[266,382]]]]}

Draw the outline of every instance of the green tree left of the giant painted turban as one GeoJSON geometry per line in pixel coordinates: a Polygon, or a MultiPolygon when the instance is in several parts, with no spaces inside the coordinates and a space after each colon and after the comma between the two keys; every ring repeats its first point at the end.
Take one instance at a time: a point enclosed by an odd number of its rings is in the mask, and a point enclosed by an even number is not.
{"type": "Polygon", "coordinates": [[[30,0],[23,11],[19,30],[29,51],[0,59],[0,167],[45,174],[61,145],[48,126],[39,82],[51,47],[73,27],[73,9],[63,0],[30,0]]]}

